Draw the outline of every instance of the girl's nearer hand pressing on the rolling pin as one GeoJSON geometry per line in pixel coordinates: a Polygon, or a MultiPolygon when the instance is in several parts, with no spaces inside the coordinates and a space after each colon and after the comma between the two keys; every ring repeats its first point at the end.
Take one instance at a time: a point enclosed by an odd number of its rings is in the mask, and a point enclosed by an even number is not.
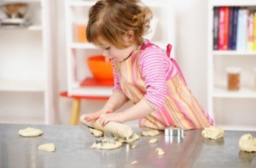
{"type": "Polygon", "coordinates": [[[110,121],[119,122],[119,123],[125,122],[125,120],[123,119],[122,113],[104,114],[100,116],[99,120],[102,126],[106,126],[106,124],[108,124],[108,122],[110,121]]]}

